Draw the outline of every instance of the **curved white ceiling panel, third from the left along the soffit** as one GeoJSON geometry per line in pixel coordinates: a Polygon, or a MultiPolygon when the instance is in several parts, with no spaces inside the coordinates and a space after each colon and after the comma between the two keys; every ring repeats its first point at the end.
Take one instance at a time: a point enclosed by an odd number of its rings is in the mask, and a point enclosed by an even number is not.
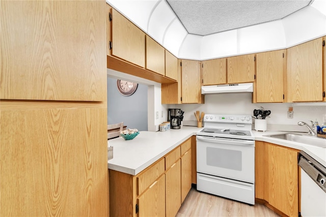
{"type": "Polygon", "coordinates": [[[170,26],[167,28],[165,35],[163,36],[162,45],[169,50],[173,55],[179,55],[179,48],[187,35],[187,31],[184,29],[180,21],[175,18],[170,26]]]}

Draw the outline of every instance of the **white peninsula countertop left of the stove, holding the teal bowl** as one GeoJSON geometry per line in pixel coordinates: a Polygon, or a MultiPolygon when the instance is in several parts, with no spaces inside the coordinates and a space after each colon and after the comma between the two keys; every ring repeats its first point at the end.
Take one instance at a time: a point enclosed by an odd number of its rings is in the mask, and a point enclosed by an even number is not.
{"type": "Polygon", "coordinates": [[[113,159],[107,162],[108,169],[137,175],[202,129],[183,126],[166,132],[141,131],[132,140],[122,137],[108,140],[108,145],[113,146],[113,159]]]}

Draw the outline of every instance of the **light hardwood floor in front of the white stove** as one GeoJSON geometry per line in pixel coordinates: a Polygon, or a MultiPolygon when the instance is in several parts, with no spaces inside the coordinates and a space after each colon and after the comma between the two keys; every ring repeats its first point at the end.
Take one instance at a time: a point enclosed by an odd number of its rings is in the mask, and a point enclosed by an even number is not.
{"type": "Polygon", "coordinates": [[[245,203],[198,192],[192,188],[181,205],[177,217],[183,216],[280,216],[262,204],[245,203]]]}

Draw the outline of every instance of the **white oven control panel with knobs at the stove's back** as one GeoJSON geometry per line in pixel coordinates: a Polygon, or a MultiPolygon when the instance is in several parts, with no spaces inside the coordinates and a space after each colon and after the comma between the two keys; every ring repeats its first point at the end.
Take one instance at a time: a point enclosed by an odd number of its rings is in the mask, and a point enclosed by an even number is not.
{"type": "Polygon", "coordinates": [[[204,122],[252,123],[251,115],[205,114],[204,122]]]}

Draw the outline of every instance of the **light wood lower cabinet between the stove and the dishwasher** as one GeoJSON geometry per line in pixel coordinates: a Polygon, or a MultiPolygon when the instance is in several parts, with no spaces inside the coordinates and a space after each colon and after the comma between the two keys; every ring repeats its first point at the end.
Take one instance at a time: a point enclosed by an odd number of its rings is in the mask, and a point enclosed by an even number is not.
{"type": "Polygon", "coordinates": [[[255,151],[255,197],[281,215],[297,216],[299,150],[256,141],[255,151]]]}

